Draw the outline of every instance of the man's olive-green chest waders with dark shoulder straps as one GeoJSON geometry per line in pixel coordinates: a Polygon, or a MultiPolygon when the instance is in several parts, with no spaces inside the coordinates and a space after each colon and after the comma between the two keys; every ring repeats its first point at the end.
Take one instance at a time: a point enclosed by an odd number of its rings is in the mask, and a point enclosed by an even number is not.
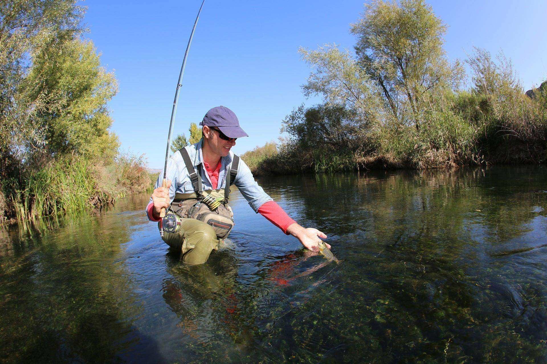
{"type": "MultiPolygon", "coordinates": [[[[230,186],[237,175],[239,157],[234,154],[229,173],[226,174],[226,186],[224,191],[203,190],[201,183],[201,168],[197,166],[196,173],[191,163],[188,151],[181,148],[179,151],[184,159],[186,168],[190,174],[190,180],[194,187],[194,193],[177,193],[171,204],[171,210],[177,214],[180,227],[172,234],[165,233],[162,239],[174,252],[180,253],[181,259],[190,265],[203,264],[213,250],[218,249],[219,239],[222,240],[230,234],[234,225],[234,214],[228,199],[230,186]],[[211,210],[203,203],[208,195],[221,200],[222,204],[211,210]]],[[[158,228],[160,228],[160,223],[158,228]]]]}

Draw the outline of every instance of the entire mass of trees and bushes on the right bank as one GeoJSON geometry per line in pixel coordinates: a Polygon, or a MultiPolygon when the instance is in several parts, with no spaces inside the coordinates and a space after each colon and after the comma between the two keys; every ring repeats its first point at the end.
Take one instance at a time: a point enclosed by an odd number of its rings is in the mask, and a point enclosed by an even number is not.
{"type": "Polygon", "coordinates": [[[255,169],[280,172],[436,168],[547,160],[547,86],[525,96],[511,62],[475,48],[449,63],[446,25],[423,0],[374,0],[351,25],[356,55],[300,49],[312,71],[303,105],[283,120],[284,144],[255,169]]]}

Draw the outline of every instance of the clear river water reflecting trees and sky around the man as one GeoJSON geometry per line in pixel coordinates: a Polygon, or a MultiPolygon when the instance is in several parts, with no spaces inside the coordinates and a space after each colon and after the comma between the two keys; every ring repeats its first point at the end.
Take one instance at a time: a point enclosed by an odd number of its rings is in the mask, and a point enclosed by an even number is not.
{"type": "Polygon", "coordinates": [[[546,362],[544,168],[260,181],[340,264],[236,193],[201,266],[107,211],[0,230],[3,362],[546,362]]]}

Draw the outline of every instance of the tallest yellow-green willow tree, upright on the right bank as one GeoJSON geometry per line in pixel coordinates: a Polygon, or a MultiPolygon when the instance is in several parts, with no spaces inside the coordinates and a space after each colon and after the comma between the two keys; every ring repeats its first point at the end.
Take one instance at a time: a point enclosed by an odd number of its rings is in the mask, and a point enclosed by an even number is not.
{"type": "Polygon", "coordinates": [[[461,64],[446,58],[446,25],[424,0],[366,4],[351,33],[357,36],[357,62],[380,88],[391,114],[417,130],[428,96],[457,87],[463,77],[461,64]]]}

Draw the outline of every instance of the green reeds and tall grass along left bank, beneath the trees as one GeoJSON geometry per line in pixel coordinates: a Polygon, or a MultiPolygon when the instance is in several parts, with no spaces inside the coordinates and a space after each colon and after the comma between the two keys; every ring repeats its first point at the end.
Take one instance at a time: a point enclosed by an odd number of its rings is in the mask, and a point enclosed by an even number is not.
{"type": "Polygon", "coordinates": [[[0,195],[4,222],[104,206],[152,189],[156,178],[148,173],[142,157],[126,155],[107,165],[82,156],[65,156],[23,173],[21,183],[12,180],[3,186],[10,192],[0,195]]]}

